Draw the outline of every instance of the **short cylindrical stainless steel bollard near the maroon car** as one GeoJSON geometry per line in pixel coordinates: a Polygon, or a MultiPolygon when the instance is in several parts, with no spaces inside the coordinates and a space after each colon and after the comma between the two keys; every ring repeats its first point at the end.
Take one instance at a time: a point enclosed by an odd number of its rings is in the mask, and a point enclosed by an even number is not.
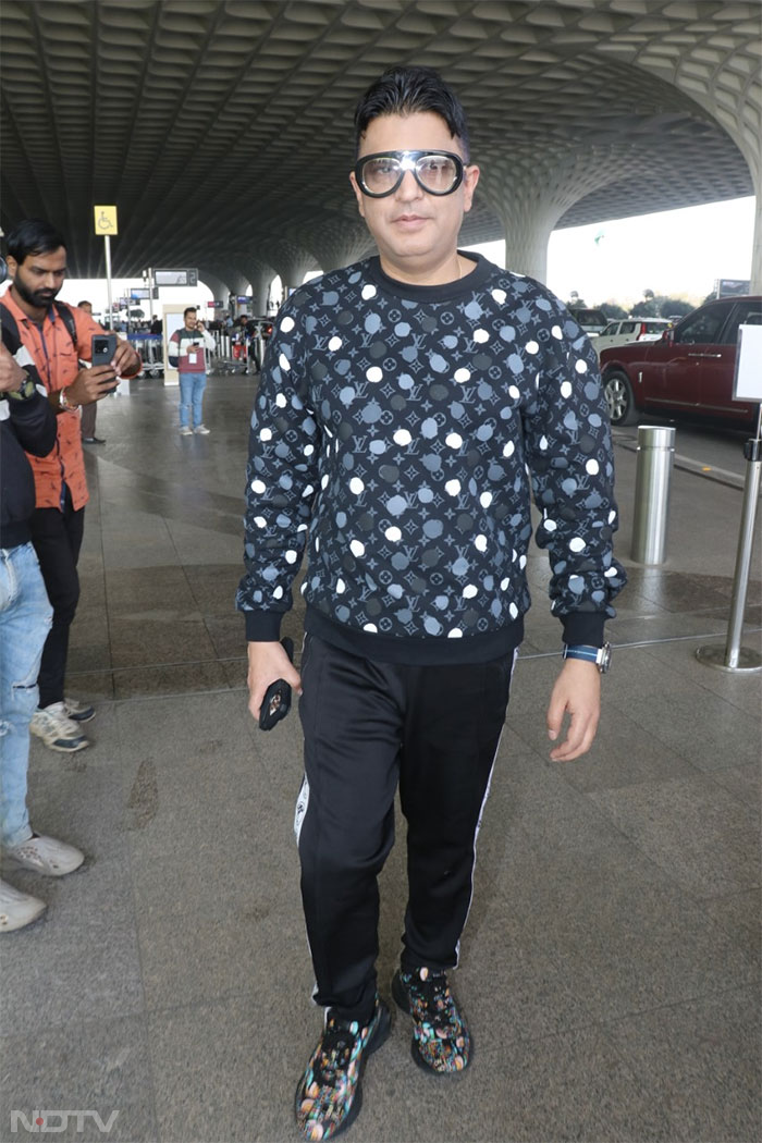
{"type": "Polygon", "coordinates": [[[674,453],[674,429],[661,425],[637,426],[632,546],[632,558],[636,563],[664,563],[674,453]]]}

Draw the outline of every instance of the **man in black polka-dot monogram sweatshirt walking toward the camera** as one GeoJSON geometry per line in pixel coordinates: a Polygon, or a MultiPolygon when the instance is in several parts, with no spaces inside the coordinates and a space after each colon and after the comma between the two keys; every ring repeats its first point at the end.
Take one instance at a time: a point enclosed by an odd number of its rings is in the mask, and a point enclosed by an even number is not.
{"type": "Polygon", "coordinates": [[[296,1095],[307,1140],[354,1120],[367,1056],[388,1034],[377,877],[398,784],[409,896],[392,996],[412,1018],[417,1064],[468,1066],[447,972],[530,602],[531,494],[564,641],[554,760],[595,735],[603,625],[625,581],[589,342],[544,286],[457,248],[479,179],[457,97],[430,69],[392,69],[355,126],[350,178],[378,257],[323,274],[280,311],[251,418],[238,594],[252,716],[278,678],[302,696],[295,828],[324,1008],[296,1095]],[[299,677],[278,639],[305,544],[299,677]]]}

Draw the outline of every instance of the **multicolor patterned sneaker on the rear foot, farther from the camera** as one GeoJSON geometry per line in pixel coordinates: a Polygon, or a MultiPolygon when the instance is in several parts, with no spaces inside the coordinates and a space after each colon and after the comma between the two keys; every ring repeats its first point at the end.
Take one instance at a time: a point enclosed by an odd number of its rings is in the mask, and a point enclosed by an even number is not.
{"type": "Polygon", "coordinates": [[[447,983],[447,973],[401,968],[392,981],[392,996],[412,1016],[410,1052],[420,1068],[441,1076],[463,1071],[471,1062],[471,1033],[447,983]]]}

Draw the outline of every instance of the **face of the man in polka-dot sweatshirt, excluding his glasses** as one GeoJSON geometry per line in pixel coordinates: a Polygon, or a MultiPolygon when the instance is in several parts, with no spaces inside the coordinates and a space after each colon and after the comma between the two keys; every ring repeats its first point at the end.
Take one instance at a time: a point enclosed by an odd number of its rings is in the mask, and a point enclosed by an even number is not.
{"type": "MultiPolygon", "coordinates": [[[[379,115],[368,125],[358,158],[383,151],[450,151],[465,155],[460,141],[433,111],[411,115],[379,115]]],[[[479,168],[466,167],[460,186],[451,194],[428,194],[408,170],[387,198],[363,194],[354,177],[350,181],[358,209],[376,240],[382,264],[406,278],[426,275],[455,257],[464,214],[471,209],[479,168]]]]}

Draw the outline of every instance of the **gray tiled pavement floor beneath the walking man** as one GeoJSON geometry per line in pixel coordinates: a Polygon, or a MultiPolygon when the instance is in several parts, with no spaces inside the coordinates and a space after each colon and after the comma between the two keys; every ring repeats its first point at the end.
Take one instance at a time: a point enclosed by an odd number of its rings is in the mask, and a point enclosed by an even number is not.
{"type": "MultiPolygon", "coordinates": [[[[298,720],[246,710],[241,552],[252,383],[215,378],[208,438],[179,438],[176,390],[104,402],[71,693],[94,745],[34,743],[38,829],[87,866],[16,873],[50,908],[0,945],[0,1138],[10,1111],[94,1109],[119,1143],[280,1143],[319,1014],[292,842],[298,720]]],[[[700,665],[728,624],[740,494],[676,471],[669,559],[629,563],[635,456],[617,448],[631,586],[610,624],[593,751],[547,759],[559,660],[545,558],[479,839],[457,988],[473,1068],[430,1079],[395,1018],[348,1140],[752,1143],[760,1106],[760,678],[700,665]]],[[[755,554],[745,642],[762,646],[755,554]]],[[[287,621],[297,637],[299,614],[287,621]]],[[[400,829],[402,837],[403,831],[400,829]]],[[[403,846],[382,876],[388,990],[403,846]]],[[[91,1120],[62,1138],[101,1138],[91,1120]]]]}

